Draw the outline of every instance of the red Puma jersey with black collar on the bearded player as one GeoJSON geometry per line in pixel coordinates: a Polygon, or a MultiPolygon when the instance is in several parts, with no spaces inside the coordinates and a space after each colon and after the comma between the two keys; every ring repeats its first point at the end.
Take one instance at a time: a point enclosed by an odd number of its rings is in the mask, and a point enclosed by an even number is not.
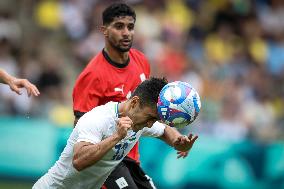
{"type": "MultiPolygon", "coordinates": [[[[138,50],[130,49],[126,64],[113,62],[102,51],[81,72],[73,89],[73,111],[81,117],[96,106],[109,101],[121,102],[131,96],[134,89],[149,78],[150,65],[138,50]]],[[[139,161],[138,144],[128,156],[139,161]]]]}

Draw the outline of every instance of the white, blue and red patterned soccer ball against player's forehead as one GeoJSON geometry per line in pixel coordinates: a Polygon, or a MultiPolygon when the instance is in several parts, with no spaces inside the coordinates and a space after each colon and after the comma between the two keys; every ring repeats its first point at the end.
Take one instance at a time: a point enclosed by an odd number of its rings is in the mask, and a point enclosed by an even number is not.
{"type": "Polygon", "coordinates": [[[183,128],[196,119],[201,101],[197,91],[190,84],[175,81],[163,87],[157,107],[158,114],[165,124],[183,128]]]}

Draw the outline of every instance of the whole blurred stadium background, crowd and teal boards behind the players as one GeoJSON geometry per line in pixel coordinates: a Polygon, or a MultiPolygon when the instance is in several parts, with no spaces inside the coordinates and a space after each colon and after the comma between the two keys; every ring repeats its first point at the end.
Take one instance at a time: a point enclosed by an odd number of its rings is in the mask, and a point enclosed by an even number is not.
{"type": "MultiPolygon", "coordinates": [[[[37,84],[0,86],[0,188],[31,188],[72,129],[72,87],[104,45],[109,0],[0,1],[0,67],[37,84]]],[[[134,47],[152,75],[191,83],[202,111],[188,158],[142,139],[142,166],[162,189],[284,188],[284,1],[129,0],[134,47]]]]}

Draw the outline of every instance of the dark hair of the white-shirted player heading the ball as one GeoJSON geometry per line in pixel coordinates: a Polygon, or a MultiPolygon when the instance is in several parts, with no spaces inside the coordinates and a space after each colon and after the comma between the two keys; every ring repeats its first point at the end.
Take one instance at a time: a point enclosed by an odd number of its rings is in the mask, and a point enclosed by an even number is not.
{"type": "Polygon", "coordinates": [[[162,88],[168,83],[165,78],[151,77],[143,81],[131,95],[139,96],[140,106],[156,106],[162,88]]]}

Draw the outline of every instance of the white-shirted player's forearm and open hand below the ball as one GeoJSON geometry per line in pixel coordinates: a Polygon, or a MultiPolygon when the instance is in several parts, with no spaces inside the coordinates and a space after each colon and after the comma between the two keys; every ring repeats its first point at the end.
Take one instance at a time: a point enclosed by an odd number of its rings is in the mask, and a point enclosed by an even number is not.
{"type": "Polygon", "coordinates": [[[198,136],[189,134],[189,136],[181,135],[175,128],[166,126],[163,136],[161,137],[170,146],[178,150],[178,158],[185,158],[188,151],[192,148],[198,136]]]}

